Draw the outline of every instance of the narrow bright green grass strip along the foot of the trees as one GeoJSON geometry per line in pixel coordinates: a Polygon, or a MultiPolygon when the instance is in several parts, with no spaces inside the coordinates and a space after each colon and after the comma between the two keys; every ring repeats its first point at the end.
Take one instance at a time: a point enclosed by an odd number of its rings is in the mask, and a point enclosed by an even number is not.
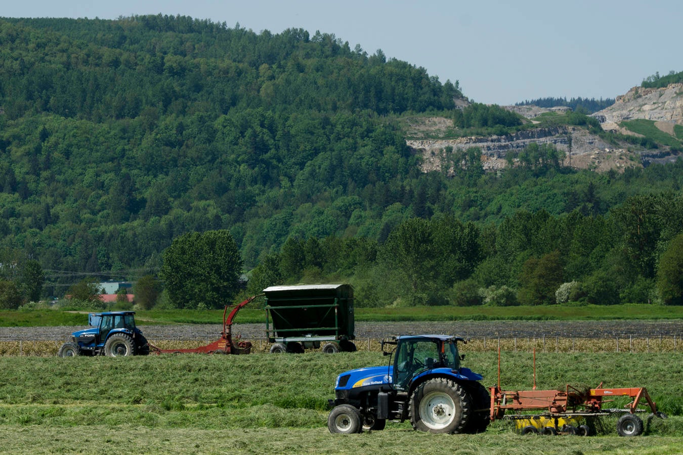
{"type": "MultiPolygon", "coordinates": [[[[265,312],[240,310],[237,323],[262,323],[265,312]]],[[[630,319],[683,319],[683,306],[662,305],[543,305],[543,306],[419,306],[356,308],[356,321],[609,321],[630,319]]],[[[1,311],[0,327],[87,325],[87,312],[60,310],[1,311]]],[[[136,313],[138,325],[219,324],[223,310],[145,310],[136,313]]]]}

